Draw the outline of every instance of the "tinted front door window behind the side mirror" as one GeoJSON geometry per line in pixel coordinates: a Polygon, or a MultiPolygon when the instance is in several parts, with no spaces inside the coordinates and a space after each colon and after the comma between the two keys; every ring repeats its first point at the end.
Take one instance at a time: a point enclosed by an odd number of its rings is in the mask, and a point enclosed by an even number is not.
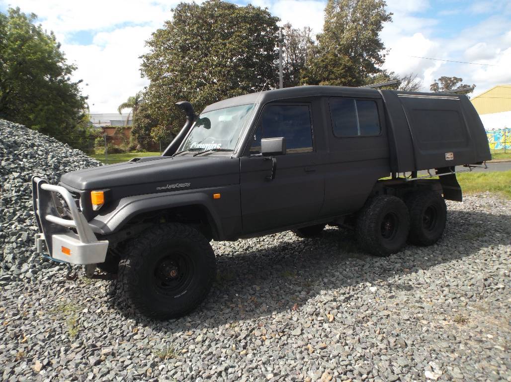
{"type": "Polygon", "coordinates": [[[312,151],[311,112],[307,105],[267,105],[252,136],[250,154],[261,152],[262,138],[286,138],[288,153],[312,151]]]}

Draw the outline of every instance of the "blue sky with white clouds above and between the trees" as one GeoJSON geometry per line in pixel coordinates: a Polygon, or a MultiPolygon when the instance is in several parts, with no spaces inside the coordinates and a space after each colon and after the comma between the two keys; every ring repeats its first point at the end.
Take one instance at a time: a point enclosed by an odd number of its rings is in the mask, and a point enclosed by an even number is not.
{"type": "MultiPolygon", "coordinates": [[[[44,28],[53,30],[69,61],[78,66],[92,113],[111,113],[128,96],[147,85],[140,59],[145,41],[172,17],[176,0],[0,0],[8,6],[34,12],[44,28]]],[[[238,1],[237,4],[247,4],[238,1]]],[[[320,32],[321,0],[254,0],[253,5],[295,27],[320,32]]],[[[387,0],[394,13],[381,37],[389,54],[384,67],[399,74],[417,73],[424,89],[440,76],[458,76],[477,85],[474,94],[511,83],[511,1],[387,0]],[[410,56],[466,61],[474,65],[410,56]],[[492,66],[490,66],[492,65],[492,66]]]]}

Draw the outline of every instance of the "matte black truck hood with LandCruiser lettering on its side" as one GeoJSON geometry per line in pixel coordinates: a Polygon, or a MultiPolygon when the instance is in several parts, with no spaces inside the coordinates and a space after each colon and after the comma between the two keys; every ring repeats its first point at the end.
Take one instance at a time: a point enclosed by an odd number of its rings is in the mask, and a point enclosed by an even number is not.
{"type": "Polygon", "coordinates": [[[183,189],[239,183],[239,170],[239,159],[230,156],[156,156],[68,172],[60,182],[76,190],[123,189],[125,196],[168,192],[174,184],[183,189]]]}

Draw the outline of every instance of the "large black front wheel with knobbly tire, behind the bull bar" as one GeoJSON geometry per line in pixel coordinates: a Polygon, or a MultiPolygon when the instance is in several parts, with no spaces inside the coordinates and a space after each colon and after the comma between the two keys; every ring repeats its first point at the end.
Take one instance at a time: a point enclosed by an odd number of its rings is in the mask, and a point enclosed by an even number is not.
{"type": "Polygon", "coordinates": [[[127,246],[119,263],[124,299],[145,316],[166,320],[196,308],[216,276],[216,260],[207,239],[181,223],[151,228],[127,246]]]}

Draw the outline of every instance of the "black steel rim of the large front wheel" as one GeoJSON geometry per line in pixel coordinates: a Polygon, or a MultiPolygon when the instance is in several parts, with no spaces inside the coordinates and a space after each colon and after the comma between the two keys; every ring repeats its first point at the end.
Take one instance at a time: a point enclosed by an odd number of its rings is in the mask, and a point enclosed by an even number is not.
{"type": "Polygon", "coordinates": [[[194,263],[184,252],[159,259],[154,268],[154,285],[159,293],[177,297],[188,290],[195,274],[194,263]]]}

